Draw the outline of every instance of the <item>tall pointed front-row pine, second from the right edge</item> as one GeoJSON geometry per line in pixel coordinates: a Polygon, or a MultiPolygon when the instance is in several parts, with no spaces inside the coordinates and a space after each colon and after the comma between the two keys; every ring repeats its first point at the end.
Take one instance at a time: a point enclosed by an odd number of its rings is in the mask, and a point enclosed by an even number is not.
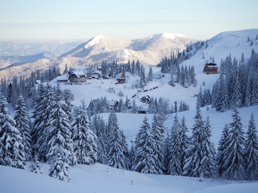
{"type": "Polygon", "coordinates": [[[244,179],[244,131],[239,116],[239,109],[233,108],[232,119],[230,124],[229,139],[227,141],[227,149],[224,152],[225,163],[223,165],[224,173],[222,178],[228,180],[243,180],[244,179]]]}

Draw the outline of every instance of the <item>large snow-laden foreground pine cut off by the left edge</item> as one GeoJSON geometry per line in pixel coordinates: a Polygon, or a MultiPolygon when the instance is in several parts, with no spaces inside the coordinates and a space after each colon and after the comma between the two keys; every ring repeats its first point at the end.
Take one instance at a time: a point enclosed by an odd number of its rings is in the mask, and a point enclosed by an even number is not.
{"type": "Polygon", "coordinates": [[[25,154],[23,152],[20,132],[15,128],[15,120],[9,115],[7,102],[0,96],[0,165],[25,169],[25,154]]]}

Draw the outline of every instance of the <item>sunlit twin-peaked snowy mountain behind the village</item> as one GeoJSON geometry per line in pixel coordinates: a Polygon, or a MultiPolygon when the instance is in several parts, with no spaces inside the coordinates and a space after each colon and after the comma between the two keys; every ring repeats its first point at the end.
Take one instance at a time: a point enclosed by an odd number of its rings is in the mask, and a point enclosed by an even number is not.
{"type": "Polygon", "coordinates": [[[182,51],[189,43],[195,41],[178,33],[155,34],[137,40],[110,39],[100,33],[60,57],[84,57],[91,63],[113,59],[118,62],[139,59],[143,64],[150,66],[156,65],[162,56],[169,55],[171,51],[182,51]],[[127,54],[124,54],[125,52],[127,54]]]}

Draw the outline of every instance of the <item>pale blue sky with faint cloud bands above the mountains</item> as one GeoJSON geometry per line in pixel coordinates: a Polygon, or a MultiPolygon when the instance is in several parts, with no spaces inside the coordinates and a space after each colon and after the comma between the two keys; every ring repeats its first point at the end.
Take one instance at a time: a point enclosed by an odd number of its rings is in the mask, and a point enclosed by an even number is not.
{"type": "Polygon", "coordinates": [[[165,32],[198,40],[258,28],[258,0],[1,0],[0,39],[139,39],[165,32]]]}

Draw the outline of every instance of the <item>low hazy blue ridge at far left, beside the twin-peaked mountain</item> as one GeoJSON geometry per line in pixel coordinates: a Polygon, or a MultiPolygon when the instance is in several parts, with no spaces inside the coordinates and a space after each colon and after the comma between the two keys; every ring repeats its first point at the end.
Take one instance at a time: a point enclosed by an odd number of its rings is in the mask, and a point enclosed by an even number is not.
{"type": "Polygon", "coordinates": [[[29,56],[0,56],[0,62],[6,62],[6,63],[27,63],[27,62],[33,62],[39,59],[52,59],[56,58],[57,56],[54,55],[51,52],[42,52],[35,55],[29,55],[29,56]]]}

